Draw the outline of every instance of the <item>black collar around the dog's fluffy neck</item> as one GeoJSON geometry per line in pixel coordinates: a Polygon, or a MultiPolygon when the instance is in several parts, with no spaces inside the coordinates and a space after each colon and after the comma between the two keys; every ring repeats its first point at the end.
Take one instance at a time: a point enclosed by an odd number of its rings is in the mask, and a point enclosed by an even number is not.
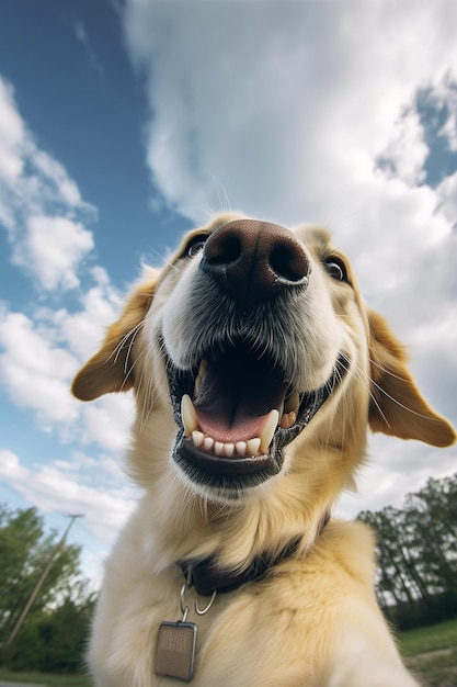
{"type": "MultiPolygon", "coordinates": [[[[330,514],[327,513],[318,530],[321,533],[328,521],[330,514]]],[[[188,585],[195,587],[201,596],[212,596],[215,592],[225,594],[232,592],[247,582],[258,582],[266,575],[270,568],[274,567],[284,559],[293,555],[298,549],[301,537],[293,539],[276,556],[263,553],[255,556],[249,567],[240,573],[230,571],[220,571],[215,567],[214,556],[199,559],[197,561],[180,561],[179,567],[182,570],[184,577],[188,581],[188,585]]]]}

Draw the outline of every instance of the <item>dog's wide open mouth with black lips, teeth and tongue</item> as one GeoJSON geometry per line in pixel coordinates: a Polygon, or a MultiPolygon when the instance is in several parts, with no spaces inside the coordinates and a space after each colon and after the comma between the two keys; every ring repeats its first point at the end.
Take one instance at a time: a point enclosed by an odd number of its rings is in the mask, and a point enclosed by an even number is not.
{"type": "Polygon", "coordinates": [[[281,471],[283,449],[305,429],[341,380],[339,359],[320,388],[300,393],[269,356],[248,345],[208,353],[192,372],[170,361],[180,428],[173,458],[195,483],[231,493],[281,471]]]}

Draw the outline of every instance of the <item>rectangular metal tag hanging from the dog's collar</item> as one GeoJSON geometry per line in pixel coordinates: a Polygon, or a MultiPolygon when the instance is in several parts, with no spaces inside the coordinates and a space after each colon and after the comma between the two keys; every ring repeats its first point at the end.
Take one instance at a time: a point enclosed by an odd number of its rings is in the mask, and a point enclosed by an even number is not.
{"type": "Polygon", "coordinates": [[[156,647],[156,675],[191,682],[196,638],[197,626],[193,622],[161,622],[156,647]]]}

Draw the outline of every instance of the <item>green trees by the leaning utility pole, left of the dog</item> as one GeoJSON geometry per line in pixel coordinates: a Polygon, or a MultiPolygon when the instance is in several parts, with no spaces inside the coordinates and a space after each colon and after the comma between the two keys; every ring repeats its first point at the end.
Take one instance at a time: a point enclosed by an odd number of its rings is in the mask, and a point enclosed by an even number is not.
{"type": "MultiPolygon", "coordinates": [[[[45,532],[36,508],[0,507],[0,645],[10,637],[59,537],[45,532]]],[[[75,671],[82,665],[94,604],[80,572],[80,547],[64,543],[3,662],[27,669],[75,671]],[[54,666],[54,667],[53,667],[54,666]]]]}

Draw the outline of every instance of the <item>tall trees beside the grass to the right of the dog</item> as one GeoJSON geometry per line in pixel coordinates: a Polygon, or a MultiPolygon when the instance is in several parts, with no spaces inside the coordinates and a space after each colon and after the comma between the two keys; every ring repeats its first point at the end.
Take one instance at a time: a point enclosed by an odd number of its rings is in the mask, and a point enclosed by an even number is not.
{"type": "Polygon", "coordinates": [[[457,474],[429,480],[402,510],[359,515],[378,541],[377,594],[402,626],[457,615],[457,474]]]}

